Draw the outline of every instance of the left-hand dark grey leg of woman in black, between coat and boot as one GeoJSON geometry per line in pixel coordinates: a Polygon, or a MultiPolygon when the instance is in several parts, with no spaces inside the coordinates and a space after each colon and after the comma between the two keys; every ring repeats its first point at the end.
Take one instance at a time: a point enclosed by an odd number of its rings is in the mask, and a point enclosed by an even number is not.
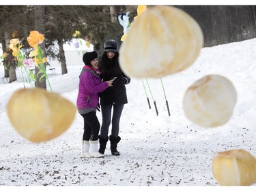
{"type": "Polygon", "coordinates": [[[109,135],[109,126],[111,124],[112,105],[101,105],[102,125],[100,128],[100,137],[106,139],[109,135]]]}

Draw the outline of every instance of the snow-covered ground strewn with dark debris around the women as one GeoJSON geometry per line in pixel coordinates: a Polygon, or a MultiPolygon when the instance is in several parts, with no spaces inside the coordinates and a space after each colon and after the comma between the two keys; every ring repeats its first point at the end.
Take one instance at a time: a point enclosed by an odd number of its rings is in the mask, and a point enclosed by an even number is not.
{"type": "MultiPolygon", "coordinates": [[[[48,71],[54,92],[76,103],[81,65],[68,74],[48,71]]],[[[3,67],[1,66],[1,72],[3,67]]],[[[0,73],[2,74],[2,73],[0,73]]],[[[0,82],[0,188],[1,186],[218,186],[212,175],[216,152],[243,148],[256,156],[256,39],[203,48],[185,71],[162,78],[171,116],[159,79],[141,79],[126,86],[128,104],[120,122],[120,156],[81,158],[83,118],[77,113],[63,135],[44,143],[31,143],[12,128],[6,105],[12,93],[23,88],[20,77],[0,82]],[[208,74],[227,77],[238,92],[231,119],[216,128],[203,128],[184,116],[184,92],[208,74]]],[[[2,76],[1,76],[2,77],[2,76]]],[[[27,84],[29,88],[29,84],[27,84]]],[[[97,113],[101,122],[101,114],[97,113]]],[[[256,184],[253,184],[256,186],[256,184]]],[[[218,187],[220,188],[220,187],[218,187]]],[[[86,188],[85,188],[86,189],[86,188]]]]}

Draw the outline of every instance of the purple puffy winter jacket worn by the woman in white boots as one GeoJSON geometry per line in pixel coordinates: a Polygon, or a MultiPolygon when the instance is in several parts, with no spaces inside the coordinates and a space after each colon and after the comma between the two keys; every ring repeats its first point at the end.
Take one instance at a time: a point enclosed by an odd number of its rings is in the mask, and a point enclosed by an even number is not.
{"type": "Polygon", "coordinates": [[[77,109],[96,109],[99,103],[98,93],[109,87],[107,82],[101,82],[100,75],[94,69],[85,66],[79,80],[79,93],[76,99],[77,109]],[[97,76],[97,77],[96,77],[97,76]]]}

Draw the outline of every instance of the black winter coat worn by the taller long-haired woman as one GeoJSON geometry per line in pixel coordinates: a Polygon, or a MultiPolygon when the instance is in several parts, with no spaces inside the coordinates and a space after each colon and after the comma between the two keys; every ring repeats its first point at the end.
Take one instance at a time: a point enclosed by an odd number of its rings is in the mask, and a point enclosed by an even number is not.
{"type": "Polygon", "coordinates": [[[100,105],[128,103],[125,85],[130,83],[130,77],[126,76],[120,68],[118,56],[119,53],[115,52],[115,56],[109,59],[106,56],[106,52],[103,52],[100,58],[99,69],[102,72],[102,81],[109,81],[113,77],[117,77],[113,82],[113,86],[106,88],[100,94],[100,105]]]}

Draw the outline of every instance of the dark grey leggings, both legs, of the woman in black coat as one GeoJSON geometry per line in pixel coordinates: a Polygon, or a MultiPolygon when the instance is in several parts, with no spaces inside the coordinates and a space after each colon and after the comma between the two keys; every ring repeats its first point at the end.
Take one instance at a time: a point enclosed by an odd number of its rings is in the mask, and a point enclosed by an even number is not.
{"type": "Polygon", "coordinates": [[[113,137],[118,137],[119,135],[119,122],[124,109],[124,104],[114,104],[114,105],[101,105],[102,114],[102,126],[100,129],[100,137],[105,139],[109,134],[109,126],[112,122],[111,135],[113,137]],[[111,120],[111,110],[113,107],[113,116],[111,120]]]}

